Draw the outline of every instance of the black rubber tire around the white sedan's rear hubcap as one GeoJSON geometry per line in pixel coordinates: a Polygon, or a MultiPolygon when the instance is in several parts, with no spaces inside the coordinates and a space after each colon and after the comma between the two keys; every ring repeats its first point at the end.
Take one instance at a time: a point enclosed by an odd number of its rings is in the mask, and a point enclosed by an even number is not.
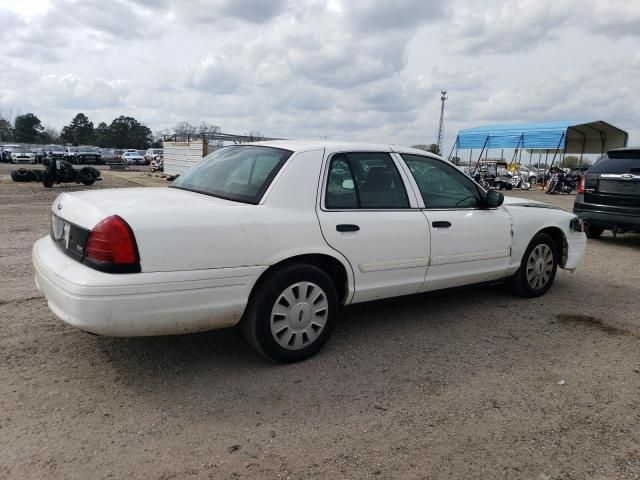
{"type": "MultiPolygon", "coordinates": [[[[316,293],[313,293],[311,296],[316,298],[316,293]]],[[[316,301],[313,301],[313,305],[315,304],[316,301]]],[[[311,357],[324,346],[333,332],[337,314],[338,294],[336,293],[336,287],[331,278],[318,267],[294,263],[285,265],[268,274],[266,278],[261,279],[249,300],[249,305],[243,316],[241,326],[247,342],[262,355],[277,362],[291,363],[311,357]],[[296,284],[301,282],[313,284],[313,286],[308,287],[312,289],[312,292],[317,293],[315,288],[319,288],[318,298],[321,298],[322,295],[321,301],[326,303],[324,316],[316,317],[322,318],[325,324],[319,330],[313,329],[315,333],[312,333],[312,335],[317,334],[317,337],[313,339],[313,341],[309,340],[306,332],[300,333],[300,330],[297,330],[298,326],[309,329],[313,328],[315,324],[312,321],[313,318],[308,318],[307,314],[303,313],[304,308],[309,308],[309,304],[304,302],[304,298],[308,297],[309,293],[301,293],[298,289],[299,294],[294,294],[294,297],[295,300],[302,299],[299,303],[295,305],[289,304],[288,306],[286,304],[283,306],[283,303],[280,303],[282,300],[284,300],[285,303],[289,303],[286,299],[282,298],[283,294],[288,289],[295,289],[296,284]],[[272,310],[278,306],[285,310],[289,309],[290,315],[286,316],[273,313],[272,310]],[[301,306],[300,309],[296,310],[299,306],[301,306]],[[277,320],[277,322],[283,322],[282,331],[284,333],[278,337],[279,340],[276,340],[278,332],[272,333],[272,316],[274,318],[283,317],[277,320]],[[303,318],[304,316],[307,316],[307,318],[303,318]],[[292,325],[292,322],[296,321],[301,323],[292,325]],[[310,341],[310,343],[297,349],[294,349],[294,346],[284,348],[281,346],[281,343],[286,342],[289,332],[291,332],[292,335],[290,342],[297,340],[297,336],[299,335],[302,343],[304,343],[305,338],[307,338],[307,341],[310,341]]],[[[308,315],[313,316],[310,311],[308,315]]],[[[274,325],[274,328],[279,327],[274,325]]]]}

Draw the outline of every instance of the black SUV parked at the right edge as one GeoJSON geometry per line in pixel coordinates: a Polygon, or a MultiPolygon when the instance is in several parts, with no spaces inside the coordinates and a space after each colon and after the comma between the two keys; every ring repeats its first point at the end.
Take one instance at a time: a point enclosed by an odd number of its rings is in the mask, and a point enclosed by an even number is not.
{"type": "Polygon", "coordinates": [[[640,147],[610,150],[582,176],[573,213],[589,238],[640,232],[640,147]]]}

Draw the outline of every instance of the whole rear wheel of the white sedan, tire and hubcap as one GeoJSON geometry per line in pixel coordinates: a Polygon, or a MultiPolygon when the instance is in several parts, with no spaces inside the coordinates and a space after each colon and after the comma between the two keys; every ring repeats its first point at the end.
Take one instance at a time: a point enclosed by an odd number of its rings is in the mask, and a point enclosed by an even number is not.
{"type": "Polygon", "coordinates": [[[317,353],[335,324],[338,295],[331,278],[307,264],[291,264],[256,287],[242,319],[249,344],[278,362],[297,362],[317,353]]]}

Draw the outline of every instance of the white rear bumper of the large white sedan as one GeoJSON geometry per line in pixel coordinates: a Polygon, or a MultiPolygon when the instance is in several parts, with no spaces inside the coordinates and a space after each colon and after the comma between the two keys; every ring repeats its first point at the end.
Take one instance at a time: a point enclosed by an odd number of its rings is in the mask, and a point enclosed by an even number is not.
{"type": "Polygon", "coordinates": [[[80,330],[115,337],[174,335],[240,321],[266,267],[108,274],[43,237],[33,248],[35,282],[51,311],[80,330]]]}

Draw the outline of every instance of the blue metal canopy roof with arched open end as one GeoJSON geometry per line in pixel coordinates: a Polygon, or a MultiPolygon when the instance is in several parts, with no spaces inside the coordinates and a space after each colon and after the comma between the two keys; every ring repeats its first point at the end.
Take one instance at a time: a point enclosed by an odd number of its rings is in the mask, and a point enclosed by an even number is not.
{"type": "Polygon", "coordinates": [[[459,149],[520,148],[563,150],[567,153],[604,153],[626,147],[629,135],[602,120],[491,125],[460,130],[459,149]]]}

